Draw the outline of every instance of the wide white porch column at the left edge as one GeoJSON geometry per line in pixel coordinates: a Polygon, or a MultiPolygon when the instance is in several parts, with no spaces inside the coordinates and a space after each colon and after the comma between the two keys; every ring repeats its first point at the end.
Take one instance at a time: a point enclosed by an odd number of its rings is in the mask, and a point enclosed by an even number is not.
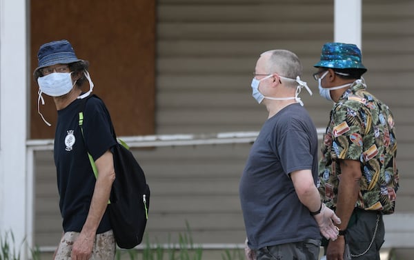
{"type": "MultiPolygon", "coordinates": [[[[0,230],[13,232],[16,250],[23,239],[32,241],[26,179],[29,46],[26,6],[26,0],[0,0],[0,230]]],[[[26,250],[21,257],[27,259],[26,250]]]]}

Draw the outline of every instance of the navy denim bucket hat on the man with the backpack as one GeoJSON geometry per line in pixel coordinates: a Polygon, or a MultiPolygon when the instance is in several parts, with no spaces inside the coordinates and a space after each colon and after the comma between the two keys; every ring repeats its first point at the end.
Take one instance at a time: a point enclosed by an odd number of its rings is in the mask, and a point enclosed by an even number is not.
{"type": "Polygon", "coordinates": [[[51,41],[50,43],[45,43],[40,46],[39,52],[37,52],[37,60],[39,61],[39,64],[33,72],[35,79],[41,76],[39,69],[55,64],[68,64],[81,61],[84,63],[85,69],[88,68],[88,61],[78,59],[70,42],[64,39],[60,41],[51,41]]]}

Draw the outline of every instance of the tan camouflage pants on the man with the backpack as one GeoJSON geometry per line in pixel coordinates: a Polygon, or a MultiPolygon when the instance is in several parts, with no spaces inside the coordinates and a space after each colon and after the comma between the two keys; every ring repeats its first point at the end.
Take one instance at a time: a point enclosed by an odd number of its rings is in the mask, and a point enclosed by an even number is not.
{"type": "MultiPolygon", "coordinates": [[[[57,248],[55,260],[70,260],[72,246],[79,237],[78,232],[66,232],[57,248]]],[[[115,259],[115,238],[112,230],[97,234],[93,244],[92,257],[90,260],[113,260],[115,259]]]]}

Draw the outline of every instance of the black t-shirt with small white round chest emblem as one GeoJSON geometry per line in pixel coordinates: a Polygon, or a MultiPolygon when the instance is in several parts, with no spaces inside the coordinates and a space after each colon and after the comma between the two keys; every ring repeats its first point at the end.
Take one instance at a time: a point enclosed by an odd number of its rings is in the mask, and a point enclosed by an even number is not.
{"type": "MultiPolygon", "coordinates": [[[[96,161],[116,143],[112,136],[108,110],[100,99],[92,97],[86,102],[83,111],[85,145],[79,127],[81,102],[81,99],[77,99],[57,112],[54,157],[64,232],[81,232],[88,217],[96,182],[88,151],[96,161]]],[[[106,211],[97,234],[108,230],[110,222],[106,211]]]]}

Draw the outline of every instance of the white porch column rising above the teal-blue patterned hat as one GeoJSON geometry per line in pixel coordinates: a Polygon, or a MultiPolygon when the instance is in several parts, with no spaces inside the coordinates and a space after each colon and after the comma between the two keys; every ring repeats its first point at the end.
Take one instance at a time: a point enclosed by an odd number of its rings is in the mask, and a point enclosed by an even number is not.
{"type": "Polygon", "coordinates": [[[361,0],[335,0],[334,6],[334,41],[362,48],[361,0]]]}

